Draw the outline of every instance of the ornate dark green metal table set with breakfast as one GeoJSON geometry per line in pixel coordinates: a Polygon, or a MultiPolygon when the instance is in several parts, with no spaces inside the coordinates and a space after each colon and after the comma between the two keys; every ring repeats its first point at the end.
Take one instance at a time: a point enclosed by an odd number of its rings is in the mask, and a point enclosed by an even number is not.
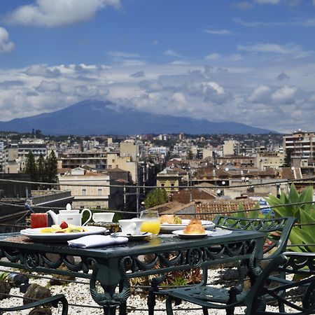
{"type": "Polygon", "coordinates": [[[19,233],[10,233],[0,235],[0,265],[90,279],[90,293],[103,307],[104,314],[116,314],[117,307],[124,314],[130,279],[134,277],[235,260],[247,260],[255,274],[254,269],[262,258],[264,236],[264,233],[248,231],[198,239],[160,235],[116,246],[73,248],[66,243],[31,241],[19,233]],[[74,256],[75,262],[69,256],[74,256]],[[66,270],[57,269],[62,263],[66,270]],[[104,292],[97,291],[96,281],[104,292]]]}

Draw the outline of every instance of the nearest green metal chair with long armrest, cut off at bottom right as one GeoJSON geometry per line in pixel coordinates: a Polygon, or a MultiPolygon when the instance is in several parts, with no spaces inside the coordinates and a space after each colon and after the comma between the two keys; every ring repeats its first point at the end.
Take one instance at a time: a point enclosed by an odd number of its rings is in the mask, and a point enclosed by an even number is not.
{"type": "Polygon", "coordinates": [[[183,291],[174,290],[167,295],[167,315],[172,315],[172,299],[177,298],[198,304],[203,308],[234,309],[245,306],[246,315],[275,315],[315,314],[315,253],[282,253],[274,257],[263,269],[255,284],[247,293],[242,292],[230,304],[209,302],[207,294],[188,295],[183,291]],[[274,272],[299,275],[304,278],[300,281],[286,281],[276,278],[270,285],[270,277],[274,272]],[[279,281],[278,281],[279,280],[279,281]],[[295,289],[302,289],[302,296],[297,295],[295,289]],[[266,310],[266,304],[277,303],[283,305],[283,310],[266,310]],[[285,306],[285,307],[284,307],[285,306]]]}

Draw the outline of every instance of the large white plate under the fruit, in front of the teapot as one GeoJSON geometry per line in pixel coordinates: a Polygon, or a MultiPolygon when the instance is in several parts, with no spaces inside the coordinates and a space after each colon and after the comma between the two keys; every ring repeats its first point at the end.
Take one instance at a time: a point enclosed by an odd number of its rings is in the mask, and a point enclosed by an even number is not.
{"type": "Polygon", "coordinates": [[[40,239],[43,241],[69,241],[69,239],[78,239],[85,235],[102,234],[106,228],[101,226],[84,226],[86,232],[72,232],[72,233],[41,233],[43,228],[25,229],[21,230],[20,234],[25,235],[31,239],[40,239]]]}

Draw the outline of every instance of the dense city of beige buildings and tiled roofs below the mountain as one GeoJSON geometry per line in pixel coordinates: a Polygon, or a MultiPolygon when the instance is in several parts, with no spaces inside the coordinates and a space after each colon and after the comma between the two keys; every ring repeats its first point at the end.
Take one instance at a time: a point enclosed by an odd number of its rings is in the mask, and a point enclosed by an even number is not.
{"type": "MultiPolygon", "coordinates": [[[[290,135],[180,133],[111,137],[48,137],[41,130],[29,134],[1,132],[2,179],[22,182],[16,184],[18,188],[1,182],[1,199],[18,202],[34,197],[31,203],[36,207],[39,195],[51,194],[56,197],[48,202],[52,205],[59,198],[59,190],[69,193],[77,209],[138,212],[153,188],[165,188],[170,209],[172,202],[176,209],[179,203],[184,209],[190,202],[215,204],[222,200],[251,201],[253,205],[262,197],[276,195],[277,181],[286,191],[290,185],[289,181],[282,183],[286,180],[301,181],[300,186],[295,183],[297,188],[304,188],[307,179],[311,185],[314,137],[313,132],[302,130],[290,135]],[[27,184],[49,182],[47,177],[34,177],[27,169],[30,153],[37,165],[40,157],[48,160],[52,153],[55,155],[57,173],[50,181],[57,185],[43,190],[43,186],[27,184]],[[239,188],[241,183],[247,186],[239,188]],[[255,186],[257,183],[270,184],[255,186]]],[[[38,202],[43,204],[41,199],[38,202]]]]}

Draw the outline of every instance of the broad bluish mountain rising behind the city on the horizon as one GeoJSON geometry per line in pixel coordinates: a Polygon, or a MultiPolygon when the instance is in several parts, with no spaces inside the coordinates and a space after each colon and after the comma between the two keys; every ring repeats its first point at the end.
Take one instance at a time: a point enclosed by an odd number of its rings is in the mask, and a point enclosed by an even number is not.
{"type": "Polygon", "coordinates": [[[1,131],[43,134],[101,135],[101,134],[267,134],[265,130],[248,125],[209,120],[174,117],[127,109],[106,101],[86,100],[52,113],[0,122],[1,131]]]}

